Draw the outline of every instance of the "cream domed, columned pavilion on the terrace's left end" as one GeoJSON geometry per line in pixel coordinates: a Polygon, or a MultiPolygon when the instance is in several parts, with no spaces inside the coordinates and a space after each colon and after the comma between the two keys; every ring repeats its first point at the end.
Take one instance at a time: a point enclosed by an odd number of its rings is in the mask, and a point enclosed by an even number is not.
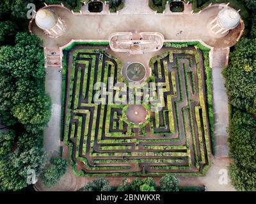
{"type": "Polygon", "coordinates": [[[36,12],[36,25],[52,38],[58,38],[65,33],[65,22],[52,10],[43,8],[36,12]]]}

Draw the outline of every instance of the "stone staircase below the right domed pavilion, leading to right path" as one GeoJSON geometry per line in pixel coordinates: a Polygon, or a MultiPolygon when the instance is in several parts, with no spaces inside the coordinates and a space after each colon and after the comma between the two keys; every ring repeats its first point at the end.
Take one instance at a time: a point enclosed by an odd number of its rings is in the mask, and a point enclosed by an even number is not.
{"type": "Polygon", "coordinates": [[[211,68],[225,68],[228,64],[229,48],[214,49],[211,51],[211,68]]]}

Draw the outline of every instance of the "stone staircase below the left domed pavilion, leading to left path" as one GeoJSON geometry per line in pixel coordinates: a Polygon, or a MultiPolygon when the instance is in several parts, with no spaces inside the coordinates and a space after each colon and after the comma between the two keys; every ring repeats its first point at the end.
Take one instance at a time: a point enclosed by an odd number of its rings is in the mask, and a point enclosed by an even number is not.
{"type": "Polygon", "coordinates": [[[45,68],[61,68],[60,50],[44,50],[45,68]]]}

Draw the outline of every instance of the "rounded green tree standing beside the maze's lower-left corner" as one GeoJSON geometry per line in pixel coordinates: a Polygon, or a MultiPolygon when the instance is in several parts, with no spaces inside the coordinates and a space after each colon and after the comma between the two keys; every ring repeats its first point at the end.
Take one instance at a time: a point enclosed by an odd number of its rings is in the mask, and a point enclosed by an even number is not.
{"type": "Polygon", "coordinates": [[[51,158],[51,165],[45,168],[41,179],[45,187],[51,188],[67,171],[67,161],[61,158],[51,158]]]}

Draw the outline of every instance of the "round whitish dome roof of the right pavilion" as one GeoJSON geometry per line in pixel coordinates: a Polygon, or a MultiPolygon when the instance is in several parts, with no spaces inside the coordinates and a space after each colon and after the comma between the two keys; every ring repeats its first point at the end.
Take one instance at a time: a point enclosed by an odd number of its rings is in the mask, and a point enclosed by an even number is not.
{"type": "Polygon", "coordinates": [[[224,8],[218,13],[218,22],[224,29],[234,29],[240,21],[239,13],[232,8],[224,8]]]}

